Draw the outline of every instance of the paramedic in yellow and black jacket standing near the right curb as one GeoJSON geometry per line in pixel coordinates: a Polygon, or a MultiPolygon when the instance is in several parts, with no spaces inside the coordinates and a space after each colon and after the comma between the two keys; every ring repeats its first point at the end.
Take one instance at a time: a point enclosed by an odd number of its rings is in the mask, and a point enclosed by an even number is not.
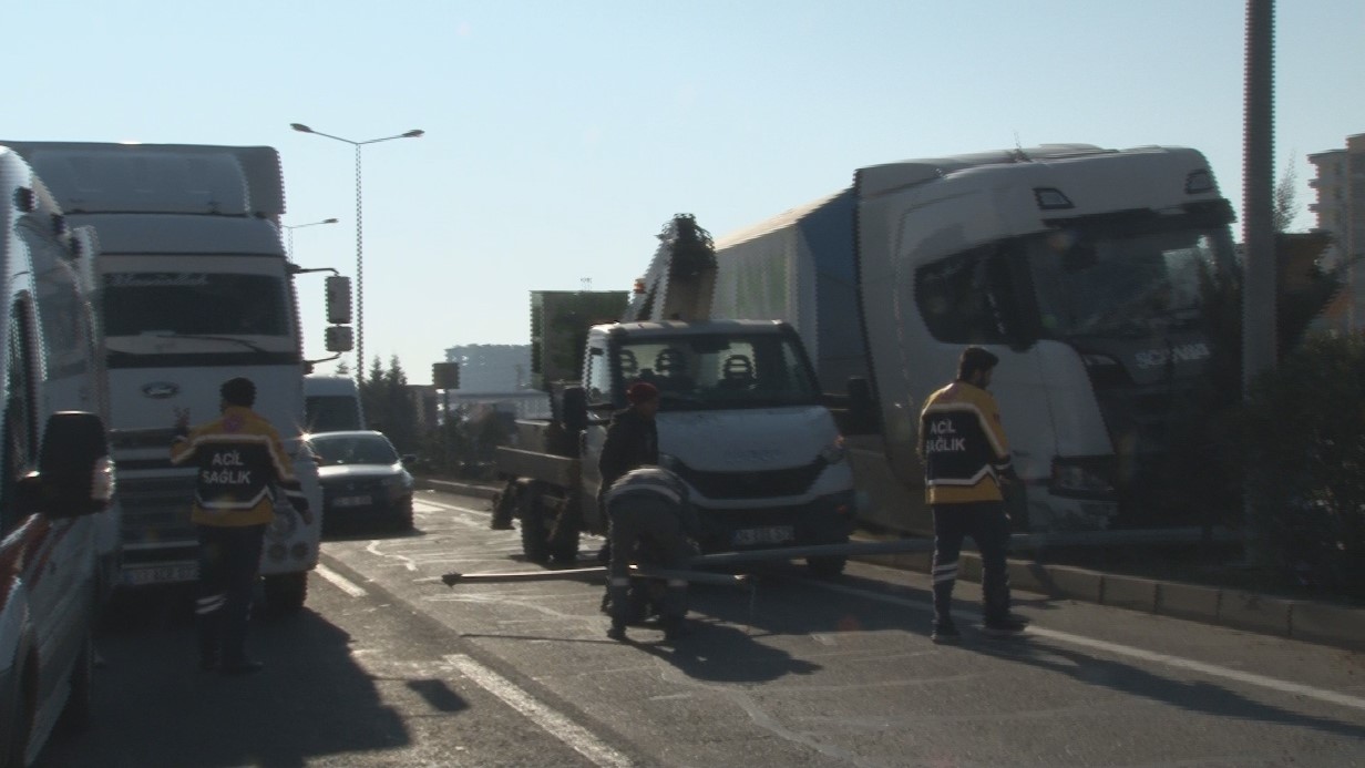
{"type": "Polygon", "coordinates": [[[1011,637],[1024,622],[1010,614],[1010,581],[1005,564],[1009,515],[1001,485],[1017,482],[999,406],[987,392],[999,358],[981,347],[966,347],[958,358],[957,380],[930,395],[920,413],[920,458],[934,510],[934,642],[958,642],[953,623],[953,585],[962,540],[971,536],[981,552],[981,592],[988,637],[1011,637]]]}

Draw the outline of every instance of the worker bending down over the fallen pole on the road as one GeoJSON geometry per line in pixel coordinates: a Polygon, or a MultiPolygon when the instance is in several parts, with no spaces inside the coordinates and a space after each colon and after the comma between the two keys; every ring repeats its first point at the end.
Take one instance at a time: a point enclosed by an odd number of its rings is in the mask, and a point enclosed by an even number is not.
{"type": "MultiPolygon", "coordinates": [[[[625,640],[625,625],[644,618],[644,600],[632,600],[631,562],[687,568],[698,553],[691,540],[696,536],[698,521],[688,503],[687,485],[665,469],[640,467],[625,473],[612,484],[603,502],[612,521],[606,586],[612,629],[606,634],[612,640],[625,640]]],[[[687,581],[666,579],[657,607],[665,641],[673,642],[687,634],[687,581]]]]}

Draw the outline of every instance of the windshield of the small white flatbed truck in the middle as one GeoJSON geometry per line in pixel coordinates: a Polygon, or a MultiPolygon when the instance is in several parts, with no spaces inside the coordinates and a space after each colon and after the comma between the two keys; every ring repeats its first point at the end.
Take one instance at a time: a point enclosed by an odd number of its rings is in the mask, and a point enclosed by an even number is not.
{"type": "Polygon", "coordinates": [[[794,339],[736,333],[625,339],[616,351],[622,391],[659,388],[662,410],[774,407],[818,402],[819,387],[794,339]]]}

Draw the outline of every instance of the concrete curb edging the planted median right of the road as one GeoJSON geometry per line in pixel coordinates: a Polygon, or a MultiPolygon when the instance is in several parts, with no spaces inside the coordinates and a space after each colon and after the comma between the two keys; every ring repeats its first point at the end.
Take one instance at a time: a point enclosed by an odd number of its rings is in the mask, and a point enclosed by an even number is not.
{"type": "MultiPolygon", "coordinates": [[[[418,478],[422,488],[493,499],[498,488],[487,484],[418,478]]],[[[854,534],[854,540],[875,541],[854,534]]],[[[930,552],[856,555],[850,559],[879,566],[928,573],[930,552]]],[[[1319,600],[1294,600],[1239,589],[1141,578],[1033,560],[1010,560],[1010,586],[1057,600],[1078,600],[1173,616],[1207,625],[1365,650],[1365,607],[1319,600]]],[[[962,552],[958,578],[980,581],[981,562],[962,552]]]]}

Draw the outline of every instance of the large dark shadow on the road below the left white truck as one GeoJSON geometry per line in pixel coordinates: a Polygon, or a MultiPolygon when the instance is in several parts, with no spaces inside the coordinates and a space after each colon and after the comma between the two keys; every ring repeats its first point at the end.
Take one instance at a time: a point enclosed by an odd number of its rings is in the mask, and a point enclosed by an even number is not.
{"type": "Polygon", "coordinates": [[[349,640],[308,608],[255,618],[247,642],[265,670],[224,676],[199,670],[183,597],[158,590],[119,601],[96,635],[105,663],[96,670],[94,724],[51,743],[38,765],[293,768],[410,743],[349,640]]]}

